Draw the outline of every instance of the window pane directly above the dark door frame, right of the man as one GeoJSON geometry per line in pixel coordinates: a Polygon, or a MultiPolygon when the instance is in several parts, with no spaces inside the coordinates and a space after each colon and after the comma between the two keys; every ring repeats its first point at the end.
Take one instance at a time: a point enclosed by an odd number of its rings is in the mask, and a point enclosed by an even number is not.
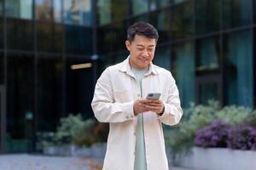
{"type": "Polygon", "coordinates": [[[196,71],[211,71],[219,68],[218,38],[201,40],[197,44],[196,71]]]}

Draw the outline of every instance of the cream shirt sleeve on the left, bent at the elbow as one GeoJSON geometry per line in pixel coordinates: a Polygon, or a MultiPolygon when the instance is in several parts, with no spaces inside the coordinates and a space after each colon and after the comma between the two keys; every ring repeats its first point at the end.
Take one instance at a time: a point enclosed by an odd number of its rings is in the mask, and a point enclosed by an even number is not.
{"type": "Polygon", "coordinates": [[[133,101],[125,103],[114,101],[109,69],[103,71],[96,82],[91,107],[99,122],[125,122],[134,118],[133,101]]]}

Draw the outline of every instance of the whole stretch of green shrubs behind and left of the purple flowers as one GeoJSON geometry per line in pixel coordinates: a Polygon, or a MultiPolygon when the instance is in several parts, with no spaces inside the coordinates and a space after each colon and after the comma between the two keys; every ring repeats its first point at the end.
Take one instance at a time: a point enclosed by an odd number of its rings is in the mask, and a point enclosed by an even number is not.
{"type": "Polygon", "coordinates": [[[165,131],[166,145],[171,149],[172,156],[189,151],[194,145],[195,133],[216,119],[233,126],[249,123],[256,127],[256,111],[244,106],[230,105],[219,108],[218,102],[213,100],[210,100],[208,105],[191,104],[188,109],[183,110],[181,122],[165,131]]]}

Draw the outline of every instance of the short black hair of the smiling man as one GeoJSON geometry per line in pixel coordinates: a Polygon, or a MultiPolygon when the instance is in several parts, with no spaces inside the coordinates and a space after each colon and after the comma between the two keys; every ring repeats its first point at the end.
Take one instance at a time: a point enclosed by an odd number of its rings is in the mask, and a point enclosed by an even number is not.
{"type": "Polygon", "coordinates": [[[158,40],[158,31],[147,22],[136,22],[130,26],[127,30],[127,40],[132,42],[136,35],[142,35],[149,38],[154,38],[157,42],[158,40]]]}

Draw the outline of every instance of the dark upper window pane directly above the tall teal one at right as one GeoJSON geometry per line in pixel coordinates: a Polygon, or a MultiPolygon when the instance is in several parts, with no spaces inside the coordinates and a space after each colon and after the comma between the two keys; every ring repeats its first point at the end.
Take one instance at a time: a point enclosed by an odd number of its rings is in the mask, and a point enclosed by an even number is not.
{"type": "Polygon", "coordinates": [[[225,0],[223,2],[224,28],[247,26],[251,20],[251,0],[225,0]]]}

